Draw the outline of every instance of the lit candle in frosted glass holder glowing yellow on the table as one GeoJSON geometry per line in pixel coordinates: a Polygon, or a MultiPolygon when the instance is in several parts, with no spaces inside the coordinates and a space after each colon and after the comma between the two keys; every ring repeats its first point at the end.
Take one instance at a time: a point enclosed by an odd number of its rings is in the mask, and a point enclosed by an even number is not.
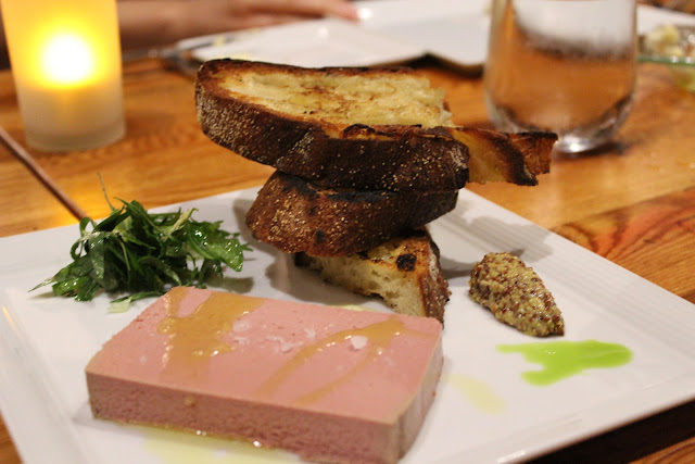
{"type": "Polygon", "coordinates": [[[115,0],[0,0],[27,145],[101,147],[125,134],[115,0]]]}

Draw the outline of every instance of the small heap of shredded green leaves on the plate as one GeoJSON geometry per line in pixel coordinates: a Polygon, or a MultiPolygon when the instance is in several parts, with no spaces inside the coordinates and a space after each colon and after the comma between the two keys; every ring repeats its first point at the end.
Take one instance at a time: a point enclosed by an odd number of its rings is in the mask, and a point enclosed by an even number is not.
{"type": "Polygon", "coordinates": [[[172,286],[204,287],[223,265],[241,271],[243,252],[251,251],[220,222],[193,221],[195,210],[150,214],[137,201],[121,202],[121,209],[109,202],[111,214],[100,223],[83,218],[70,250],[73,262],[31,290],[51,285],[55,296],[78,301],[100,291],[125,292],[110,311],[126,311],[172,286]]]}

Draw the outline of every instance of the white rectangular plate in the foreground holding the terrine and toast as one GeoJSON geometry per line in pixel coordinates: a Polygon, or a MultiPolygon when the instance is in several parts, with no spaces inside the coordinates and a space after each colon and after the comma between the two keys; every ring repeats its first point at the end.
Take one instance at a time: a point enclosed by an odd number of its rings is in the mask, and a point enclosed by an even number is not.
{"type": "MultiPolygon", "coordinates": [[[[295,268],[288,255],[255,242],[243,225],[255,193],[243,190],[182,205],[197,208],[198,221],[222,220],[252,244],[243,271],[228,273],[226,289],[388,311],[376,299],[324,284],[295,268]]],[[[445,364],[432,409],[403,462],[527,460],[695,398],[695,306],[690,302],[467,190],[430,230],[452,290],[445,364]],[[544,387],[525,383],[521,374],[538,366],[496,347],[540,340],[496,322],[467,294],[472,264],[491,251],[513,251],[539,273],[564,313],[561,339],[620,343],[632,351],[632,361],[544,387]]],[[[29,293],[67,264],[77,236],[77,227],[70,226],[0,240],[0,407],[23,459],[29,464],[293,460],[235,441],[91,417],[85,365],[150,301],[108,314],[106,296],[79,303],[45,290],[29,293]]]]}

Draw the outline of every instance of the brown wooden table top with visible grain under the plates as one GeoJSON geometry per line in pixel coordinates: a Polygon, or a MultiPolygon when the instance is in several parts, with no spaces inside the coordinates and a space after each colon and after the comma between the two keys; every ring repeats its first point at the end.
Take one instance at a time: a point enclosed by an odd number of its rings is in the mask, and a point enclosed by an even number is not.
{"type": "MultiPolygon", "coordinates": [[[[415,64],[443,87],[462,125],[490,127],[479,76],[431,61],[415,64]]],[[[33,152],[88,215],[111,197],[146,208],[261,185],[266,166],[208,141],[195,121],[192,78],[157,61],[125,68],[127,136],[98,150],[33,152]]],[[[0,125],[24,145],[12,76],[0,73],[0,125]]],[[[77,220],[25,165],[0,147],[0,236],[77,220]]],[[[533,188],[470,185],[470,190],[695,302],[695,95],[667,70],[643,64],[634,110],[607,149],[558,156],[533,188]]],[[[694,335],[695,336],[695,335],[694,335]]],[[[540,462],[694,462],[695,402],[557,451],[540,462]]],[[[20,457],[0,423],[0,462],[20,457]]]]}

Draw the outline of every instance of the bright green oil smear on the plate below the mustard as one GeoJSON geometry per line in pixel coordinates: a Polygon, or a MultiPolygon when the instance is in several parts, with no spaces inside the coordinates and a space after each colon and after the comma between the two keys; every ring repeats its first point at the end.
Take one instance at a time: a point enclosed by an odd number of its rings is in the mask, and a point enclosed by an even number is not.
{"type": "Polygon", "coordinates": [[[618,343],[596,340],[549,341],[522,344],[498,344],[502,353],[521,353],[540,371],[527,371],[521,377],[531,385],[551,385],[591,368],[618,367],[632,360],[632,351],[618,343]]]}

